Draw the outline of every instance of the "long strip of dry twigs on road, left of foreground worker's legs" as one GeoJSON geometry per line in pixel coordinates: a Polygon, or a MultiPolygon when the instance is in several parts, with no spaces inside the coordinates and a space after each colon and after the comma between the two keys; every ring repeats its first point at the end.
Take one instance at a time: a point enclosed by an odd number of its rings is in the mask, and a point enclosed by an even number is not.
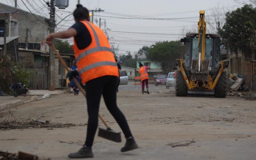
{"type": "Polygon", "coordinates": [[[73,123],[54,123],[52,121],[46,120],[41,121],[38,119],[32,118],[27,119],[24,122],[18,121],[15,116],[8,111],[9,116],[3,121],[0,122],[0,129],[1,130],[8,130],[8,129],[24,129],[24,128],[63,128],[63,127],[71,127],[71,126],[86,126],[86,124],[73,124],[73,123]]]}

